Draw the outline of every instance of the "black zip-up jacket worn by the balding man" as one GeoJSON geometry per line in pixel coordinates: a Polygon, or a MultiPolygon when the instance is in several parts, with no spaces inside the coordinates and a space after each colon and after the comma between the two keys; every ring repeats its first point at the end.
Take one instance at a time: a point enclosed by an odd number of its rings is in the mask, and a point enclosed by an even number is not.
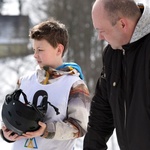
{"type": "Polygon", "coordinates": [[[150,149],[150,34],[103,56],[84,150],[106,150],[116,128],[121,150],[150,149]]]}

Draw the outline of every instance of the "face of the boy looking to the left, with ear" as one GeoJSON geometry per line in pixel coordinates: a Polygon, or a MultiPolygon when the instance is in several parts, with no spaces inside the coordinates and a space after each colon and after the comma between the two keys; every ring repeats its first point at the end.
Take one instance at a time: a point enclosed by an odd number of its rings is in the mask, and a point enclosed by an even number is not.
{"type": "Polygon", "coordinates": [[[50,66],[57,68],[62,64],[62,50],[60,46],[54,48],[45,39],[33,40],[34,57],[41,68],[50,66]]]}

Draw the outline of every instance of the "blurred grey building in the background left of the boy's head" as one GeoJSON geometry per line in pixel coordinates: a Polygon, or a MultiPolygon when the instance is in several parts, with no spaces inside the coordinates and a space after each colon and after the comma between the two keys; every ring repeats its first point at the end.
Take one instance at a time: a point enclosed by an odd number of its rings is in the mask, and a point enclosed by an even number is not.
{"type": "Polygon", "coordinates": [[[0,58],[31,53],[29,44],[29,17],[0,15],[0,58]]]}

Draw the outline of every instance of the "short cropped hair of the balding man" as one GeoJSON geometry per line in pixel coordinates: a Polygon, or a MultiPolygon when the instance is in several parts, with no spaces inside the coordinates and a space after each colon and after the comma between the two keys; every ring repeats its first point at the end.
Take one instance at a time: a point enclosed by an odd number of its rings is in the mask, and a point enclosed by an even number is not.
{"type": "Polygon", "coordinates": [[[141,14],[134,0],[103,0],[103,3],[112,25],[123,16],[137,20],[141,14]]]}

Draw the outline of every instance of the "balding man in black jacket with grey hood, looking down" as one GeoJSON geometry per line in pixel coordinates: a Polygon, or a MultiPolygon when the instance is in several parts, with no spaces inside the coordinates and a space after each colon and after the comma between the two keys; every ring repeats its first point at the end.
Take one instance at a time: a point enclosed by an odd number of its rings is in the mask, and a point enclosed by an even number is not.
{"type": "Polygon", "coordinates": [[[121,150],[149,150],[150,8],[133,0],[96,0],[92,20],[108,45],[84,150],[106,150],[114,129],[121,150]]]}

